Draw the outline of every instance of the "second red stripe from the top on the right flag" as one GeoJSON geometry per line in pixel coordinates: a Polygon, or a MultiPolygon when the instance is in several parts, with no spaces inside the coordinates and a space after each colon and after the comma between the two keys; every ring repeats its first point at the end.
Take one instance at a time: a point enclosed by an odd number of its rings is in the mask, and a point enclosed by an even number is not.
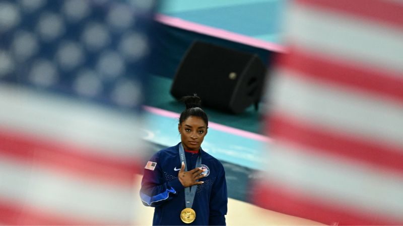
{"type": "Polygon", "coordinates": [[[291,47],[289,55],[280,55],[278,66],[298,72],[298,76],[347,86],[403,102],[403,76],[397,72],[343,61],[297,47],[291,47]]]}

